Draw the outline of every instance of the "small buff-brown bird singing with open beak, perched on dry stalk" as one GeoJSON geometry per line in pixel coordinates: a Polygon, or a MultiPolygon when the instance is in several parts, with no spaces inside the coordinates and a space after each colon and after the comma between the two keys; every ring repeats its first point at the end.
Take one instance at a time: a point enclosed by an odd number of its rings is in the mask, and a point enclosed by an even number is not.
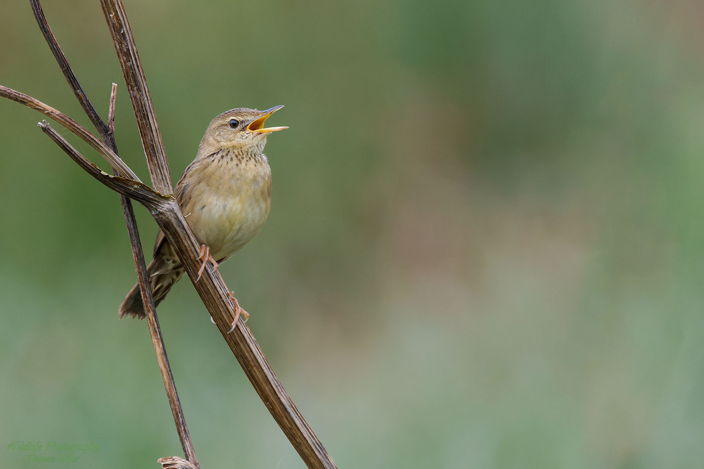
{"type": "MultiPolygon", "coordinates": [[[[289,128],[265,128],[264,121],[282,107],[266,111],[235,108],[218,115],[208,125],[196,159],[176,185],[181,211],[202,244],[199,277],[208,262],[217,268],[264,226],[271,206],[271,170],[263,154],[266,137],[289,128]]],[[[184,273],[161,230],[146,273],[155,304],[161,303],[184,273]]],[[[120,318],[144,318],[139,285],[122,301],[119,314],[120,318]]]]}

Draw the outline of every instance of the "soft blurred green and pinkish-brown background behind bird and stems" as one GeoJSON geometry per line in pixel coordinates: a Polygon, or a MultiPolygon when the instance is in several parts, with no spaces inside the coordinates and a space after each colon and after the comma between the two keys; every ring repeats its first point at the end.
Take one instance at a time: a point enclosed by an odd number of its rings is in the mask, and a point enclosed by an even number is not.
{"type": "MultiPolygon", "coordinates": [[[[340,468],[700,467],[701,6],[125,3],[174,180],[216,114],[287,106],[268,223],[220,272],[340,468]]],[[[44,11],[102,115],[118,82],[147,180],[99,2],[44,11]]],[[[2,85],[89,125],[28,2],[0,44],[2,85]]],[[[117,318],[118,198],[40,118],[0,101],[0,442],[158,467],[181,449],[146,323],[117,318]]],[[[302,468],[187,280],[159,313],[203,468],[302,468]]]]}

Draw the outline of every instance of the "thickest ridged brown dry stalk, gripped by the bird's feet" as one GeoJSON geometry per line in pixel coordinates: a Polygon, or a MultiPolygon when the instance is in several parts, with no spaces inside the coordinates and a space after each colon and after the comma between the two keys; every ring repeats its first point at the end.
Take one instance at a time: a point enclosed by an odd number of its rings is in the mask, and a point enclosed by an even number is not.
{"type": "MultiPolygon", "coordinates": [[[[171,186],[168,162],[163,154],[161,133],[156,123],[156,113],[149,97],[149,87],[139,61],[137,46],[134,44],[125,8],[121,0],[101,0],[101,5],[113,37],[122,76],[125,78],[127,91],[130,92],[132,99],[149,173],[152,175],[152,185],[158,192],[170,194],[171,192],[166,192],[167,187],[171,186]]],[[[185,223],[182,213],[166,211],[152,213],[152,215],[174,248],[196,291],[201,296],[203,304],[208,308],[210,317],[215,320],[222,337],[230,346],[244,373],[303,461],[309,468],[334,468],[332,458],[291,401],[249,327],[243,321],[238,321],[237,327],[230,332],[232,320],[235,317],[234,304],[220,275],[216,270],[206,268],[206,273],[196,282],[199,269],[196,256],[200,244],[185,223]]]]}

